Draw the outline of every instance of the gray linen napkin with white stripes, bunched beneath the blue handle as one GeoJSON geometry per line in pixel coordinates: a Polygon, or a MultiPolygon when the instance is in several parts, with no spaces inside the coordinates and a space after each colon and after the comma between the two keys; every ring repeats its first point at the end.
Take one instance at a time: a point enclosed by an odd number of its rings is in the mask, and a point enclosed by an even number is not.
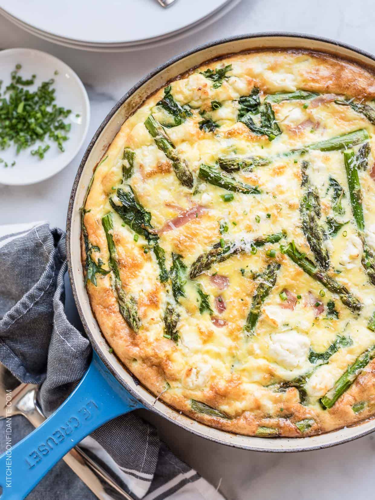
{"type": "MultiPolygon", "coordinates": [[[[63,231],[49,229],[46,222],[0,226],[0,361],[22,382],[41,383],[46,414],[67,397],[91,354],[89,341],[64,312],[65,272],[63,231]]],[[[22,416],[13,421],[15,444],[31,427],[22,416]]],[[[0,421],[0,433],[4,431],[5,421],[0,421]]],[[[102,425],[81,445],[134,499],[222,500],[159,440],[153,426],[133,413],[102,425]],[[118,436],[115,442],[109,438],[113,435],[118,436]]],[[[27,498],[95,496],[60,460],[27,498]]]]}

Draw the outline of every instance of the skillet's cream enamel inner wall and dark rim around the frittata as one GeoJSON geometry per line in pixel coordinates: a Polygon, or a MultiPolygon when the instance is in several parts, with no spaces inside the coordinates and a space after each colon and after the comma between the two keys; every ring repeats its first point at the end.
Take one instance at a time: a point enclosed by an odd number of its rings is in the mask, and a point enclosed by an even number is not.
{"type": "Polygon", "coordinates": [[[365,65],[375,72],[375,57],[373,55],[333,40],[297,33],[254,33],[225,38],[202,45],[170,59],[140,80],[117,102],[89,143],[79,165],[69,201],[66,222],[67,259],[75,303],[92,347],[114,377],[146,408],[155,411],[194,434],[221,444],[254,451],[306,451],[333,446],[373,432],[375,430],[375,419],[311,437],[253,437],[209,427],[180,414],[160,399],[155,402],[155,396],[142,385],[136,384],[130,372],[116,356],[108,351],[109,345],[101,334],[93,316],[83,285],[82,265],[80,262],[81,221],[79,207],[83,203],[96,164],[100,161],[127,117],[155,90],[165,86],[169,80],[177,75],[202,64],[204,61],[236,52],[267,48],[296,48],[328,52],[344,59],[350,59],[360,65],[365,65]]]}

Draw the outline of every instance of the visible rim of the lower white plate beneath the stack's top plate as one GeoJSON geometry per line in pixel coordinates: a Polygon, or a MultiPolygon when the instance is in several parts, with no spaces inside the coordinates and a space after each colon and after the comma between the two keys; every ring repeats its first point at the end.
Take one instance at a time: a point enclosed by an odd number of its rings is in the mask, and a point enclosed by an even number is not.
{"type": "Polygon", "coordinates": [[[194,27],[187,28],[183,31],[179,31],[177,34],[174,33],[173,35],[170,35],[168,37],[164,37],[162,39],[158,40],[152,40],[148,42],[143,42],[143,43],[137,43],[134,45],[128,45],[128,44],[103,44],[103,43],[90,43],[90,44],[84,44],[80,42],[74,42],[74,41],[69,41],[66,38],[60,38],[58,36],[52,36],[49,35],[48,33],[45,33],[44,31],[39,31],[36,28],[33,28],[32,26],[29,26],[28,24],[25,24],[15,17],[11,16],[9,13],[5,12],[4,10],[0,9],[0,13],[6,17],[9,21],[13,22],[16,24],[18,27],[24,29],[25,31],[28,31],[29,33],[38,36],[40,38],[43,38],[44,40],[47,40],[52,43],[58,43],[59,45],[63,45],[66,47],[70,48],[76,48],[79,50],[88,50],[88,51],[93,51],[93,52],[129,52],[133,50],[144,50],[146,48],[154,48],[160,45],[164,45],[165,43],[170,43],[171,41],[177,41],[185,36],[190,36],[191,34],[194,34],[195,32],[209,26],[213,22],[217,21],[220,19],[222,16],[224,16],[226,13],[228,13],[235,5],[237,5],[241,0],[229,0],[223,7],[218,9],[213,15],[207,17],[206,19],[202,20],[201,22],[198,22],[194,25],[194,27]]]}

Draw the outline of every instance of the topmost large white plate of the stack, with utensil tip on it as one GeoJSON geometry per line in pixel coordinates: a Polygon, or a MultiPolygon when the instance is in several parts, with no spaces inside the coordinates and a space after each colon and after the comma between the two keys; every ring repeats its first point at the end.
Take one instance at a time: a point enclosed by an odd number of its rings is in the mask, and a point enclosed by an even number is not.
{"type": "Polygon", "coordinates": [[[23,23],[70,42],[129,44],[186,29],[228,1],[177,0],[164,9],[156,0],[0,0],[0,7],[23,23]]]}

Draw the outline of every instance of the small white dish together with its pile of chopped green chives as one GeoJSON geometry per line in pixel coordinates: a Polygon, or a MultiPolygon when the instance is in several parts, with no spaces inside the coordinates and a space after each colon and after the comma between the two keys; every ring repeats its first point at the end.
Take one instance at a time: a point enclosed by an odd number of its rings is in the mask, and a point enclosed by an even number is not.
{"type": "Polygon", "coordinates": [[[0,68],[0,183],[40,182],[82,146],[90,119],[86,90],[68,65],[39,50],[2,50],[0,68]]]}

